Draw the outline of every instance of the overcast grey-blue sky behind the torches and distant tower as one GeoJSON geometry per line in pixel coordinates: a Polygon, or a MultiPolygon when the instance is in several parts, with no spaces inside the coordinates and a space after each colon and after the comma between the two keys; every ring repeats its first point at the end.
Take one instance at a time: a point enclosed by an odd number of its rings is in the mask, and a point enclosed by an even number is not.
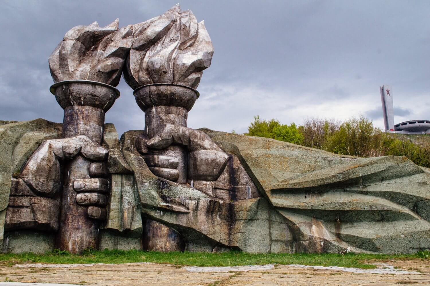
{"type": "MultiPolygon", "coordinates": [[[[64,34],[97,21],[120,27],[162,14],[176,1],[2,0],[0,120],[63,111],[49,92],[48,57],[64,34]]],[[[394,123],[430,119],[428,1],[181,1],[205,20],[215,49],[188,126],[245,132],[253,116],[302,123],[364,114],[382,127],[379,86],[392,86],[394,123]]],[[[118,132],[144,129],[121,80],[106,114],[118,132]]]]}

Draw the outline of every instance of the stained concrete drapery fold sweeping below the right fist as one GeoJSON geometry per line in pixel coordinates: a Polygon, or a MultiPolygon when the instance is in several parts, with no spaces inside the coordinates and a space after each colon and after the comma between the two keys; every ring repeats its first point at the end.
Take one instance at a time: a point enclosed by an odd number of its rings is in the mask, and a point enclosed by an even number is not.
{"type": "MultiPolygon", "coordinates": [[[[124,157],[134,171],[143,215],[181,234],[185,249],[294,252],[295,242],[286,219],[271,210],[266,199],[251,190],[249,194],[254,195],[251,199],[232,200],[234,195],[217,198],[190,185],[158,179],[144,165],[135,148],[134,138],[139,134],[139,130],[124,133],[121,145],[124,157]]],[[[236,178],[239,180],[233,187],[240,185],[240,178],[246,181],[244,176],[237,175],[236,178]]],[[[228,191],[231,186],[224,188],[228,191]]],[[[246,186],[241,190],[246,193],[246,186]]],[[[231,191],[235,193],[234,188],[231,191]]]]}

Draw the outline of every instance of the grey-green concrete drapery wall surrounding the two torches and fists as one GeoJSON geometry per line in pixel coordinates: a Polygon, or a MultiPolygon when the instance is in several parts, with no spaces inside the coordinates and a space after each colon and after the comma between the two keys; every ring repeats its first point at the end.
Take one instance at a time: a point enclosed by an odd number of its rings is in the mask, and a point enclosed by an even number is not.
{"type": "MultiPolygon", "coordinates": [[[[11,189],[12,170],[18,171],[43,139],[59,137],[61,125],[34,120],[6,123],[6,128],[12,137],[3,132],[4,142],[15,148],[6,145],[1,154],[1,167],[10,168],[9,189],[1,194],[37,197],[25,188],[11,189]]],[[[136,146],[141,130],[124,133],[119,141],[114,126],[105,125],[102,145],[112,154],[107,166],[112,184],[101,249],[141,249],[141,215],[177,233],[189,251],[338,252],[350,247],[406,253],[430,248],[428,169],[402,157],[354,158],[204,131],[229,155],[229,163],[217,181],[179,185],[148,168],[136,146]]],[[[103,168],[95,166],[93,172],[103,168]]],[[[51,231],[52,223],[45,224],[51,231]]],[[[30,236],[17,241],[25,239],[35,243],[30,236]]]]}

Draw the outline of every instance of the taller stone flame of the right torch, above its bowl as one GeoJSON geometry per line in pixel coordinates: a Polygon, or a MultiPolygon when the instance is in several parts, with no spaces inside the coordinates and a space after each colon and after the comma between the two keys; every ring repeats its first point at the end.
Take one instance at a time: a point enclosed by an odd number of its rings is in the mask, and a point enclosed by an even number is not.
{"type": "Polygon", "coordinates": [[[133,89],[151,83],[197,88],[209,68],[213,46],[204,22],[173,6],[163,15],[136,24],[124,79],[133,89]]]}

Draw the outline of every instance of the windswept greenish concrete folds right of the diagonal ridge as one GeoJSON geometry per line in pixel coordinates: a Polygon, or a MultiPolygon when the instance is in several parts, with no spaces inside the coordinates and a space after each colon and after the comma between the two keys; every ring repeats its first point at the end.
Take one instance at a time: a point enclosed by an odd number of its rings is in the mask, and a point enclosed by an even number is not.
{"type": "Polygon", "coordinates": [[[430,247],[430,175],[405,157],[354,158],[204,129],[292,226],[296,251],[430,247]],[[421,207],[420,207],[421,206],[421,207]]]}

